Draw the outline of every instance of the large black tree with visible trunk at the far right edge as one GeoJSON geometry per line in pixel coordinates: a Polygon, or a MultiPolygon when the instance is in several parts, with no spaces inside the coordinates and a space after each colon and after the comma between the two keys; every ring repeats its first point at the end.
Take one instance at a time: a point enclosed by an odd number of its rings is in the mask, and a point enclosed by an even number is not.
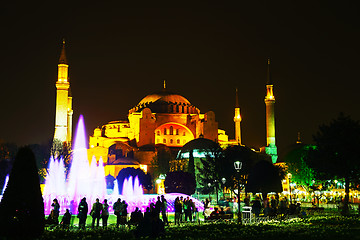
{"type": "Polygon", "coordinates": [[[320,125],[313,138],[316,148],[309,151],[305,161],[317,171],[320,179],[344,179],[342,214],[348,214],[350,185],[359,179],[360,123],[340,113],[330,124],[320,125]]]}

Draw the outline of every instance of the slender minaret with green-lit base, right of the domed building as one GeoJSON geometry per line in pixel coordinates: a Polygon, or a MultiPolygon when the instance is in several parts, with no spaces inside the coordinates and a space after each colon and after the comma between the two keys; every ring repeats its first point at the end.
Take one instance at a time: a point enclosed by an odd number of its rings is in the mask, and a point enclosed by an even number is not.
{"type": "Polygon", "coordinates": [[[270,75],[270,58],[267,62],[267,81],[266,81],[266,148],[265,151],[272,158],[272,162],[276,163],[277,148],[275,144],[275,97],[273,92],[273,82],[270,75]]]}

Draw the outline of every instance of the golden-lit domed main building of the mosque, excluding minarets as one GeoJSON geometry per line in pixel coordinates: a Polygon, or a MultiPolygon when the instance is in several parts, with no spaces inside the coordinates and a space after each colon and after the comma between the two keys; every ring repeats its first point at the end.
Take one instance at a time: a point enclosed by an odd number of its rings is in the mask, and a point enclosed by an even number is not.
{"type": "MultiPolygon", "coordinates": [[[[129,110],[128,121],[112,121],[96,128],[88,152],[97,159],[101,156],[105,169],[116,168],[111,172],[116,176],[124,168],[121,161],[132,159],[139,167],[147,166],[158,146],[177,151],[200,136],[219,141],[215,113],[200,113],[185,97],[167,91],[164,84],[162,91],[147,95],[129,110]]],[[[225,132],[222,137],[227,139],[225,132]]]]}

